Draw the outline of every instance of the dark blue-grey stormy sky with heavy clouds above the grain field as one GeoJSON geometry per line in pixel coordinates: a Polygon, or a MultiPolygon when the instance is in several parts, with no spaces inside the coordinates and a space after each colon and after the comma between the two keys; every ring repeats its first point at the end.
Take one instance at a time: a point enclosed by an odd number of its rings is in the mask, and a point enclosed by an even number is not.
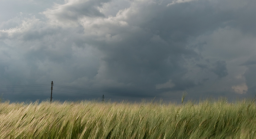
{"type": "Polygon", "coordinates": [[[0,0],[10,101],[253,98],[255,0],[0,0]],[[37,85],[37,86],[36,86],[37,85]]]}

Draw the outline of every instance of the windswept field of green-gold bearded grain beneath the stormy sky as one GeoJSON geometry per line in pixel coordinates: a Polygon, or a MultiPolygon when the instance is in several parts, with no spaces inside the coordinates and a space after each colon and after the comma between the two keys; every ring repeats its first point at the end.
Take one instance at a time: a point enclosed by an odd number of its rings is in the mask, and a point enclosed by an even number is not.
{"type": "Polygon", "coordinates": [[[0,139],[256,139],[256,103],[0,102],[0,139]]]}

